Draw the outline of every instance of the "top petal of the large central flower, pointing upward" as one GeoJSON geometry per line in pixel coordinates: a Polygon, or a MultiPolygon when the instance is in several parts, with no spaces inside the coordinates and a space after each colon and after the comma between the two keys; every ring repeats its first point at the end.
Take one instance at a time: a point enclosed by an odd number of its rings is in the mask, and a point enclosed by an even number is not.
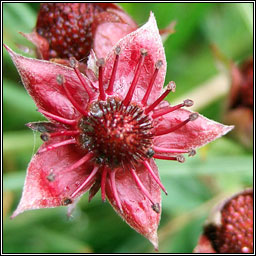
{"type": "MultiPolygon", "coordinates": [[[[122,38],[116,46],[120,46],[121,52],[114,82],[114,92],[122,99],[126,96],[134,78],[141,49],[147,50],[147,56],[145,57],[145,62],[132,101],[142,100],[154,73],[155,64],[158,60],[162,60],[163,65],[156,77],[148,103],[150,104],[155,101],[163,87],[166,73],[166,60],[161,36],[159,35],[154,15],[151,13],[148,22],[144,26],[122,38]]],[[[110,80],[115,60],[116,46],[114,46],[106,59],[104,70],[105,84],[108,84],[110,80]]]]}

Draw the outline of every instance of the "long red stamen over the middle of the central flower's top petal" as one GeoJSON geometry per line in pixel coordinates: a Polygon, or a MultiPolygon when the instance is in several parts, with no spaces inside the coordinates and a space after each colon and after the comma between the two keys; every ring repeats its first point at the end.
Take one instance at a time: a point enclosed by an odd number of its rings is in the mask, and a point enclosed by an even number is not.
{"type": "Polygon", "coordinates": [[[137,85],[140,73],[142,71],[142,66],[144,64],[144,59],[147,56],[147,51],[145,49],[141,49],[140,53],[141,53],[141,55],[140,55],[140,59],[139,59],[136,71],[135,71],[135,75],[134,75],[133,81],[131,83],[131,86],[129,88],[129,91],[128,91],[125,99],[123,100],[123,104],[125,106],[128,106],[130,104],[131,100],[132,100],[132,96],[133,96],[134,90],[136,88],[136,85],[137,85]]]}

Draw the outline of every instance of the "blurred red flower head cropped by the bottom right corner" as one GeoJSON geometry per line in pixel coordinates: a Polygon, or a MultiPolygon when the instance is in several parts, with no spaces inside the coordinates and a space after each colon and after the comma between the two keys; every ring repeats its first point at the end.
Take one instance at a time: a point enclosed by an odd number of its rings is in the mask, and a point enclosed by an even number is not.
{"type": "Polygon", "coordinates": [[[215,209],[194,252],[253,253],[252,189],[237,193],[215,209]]]}

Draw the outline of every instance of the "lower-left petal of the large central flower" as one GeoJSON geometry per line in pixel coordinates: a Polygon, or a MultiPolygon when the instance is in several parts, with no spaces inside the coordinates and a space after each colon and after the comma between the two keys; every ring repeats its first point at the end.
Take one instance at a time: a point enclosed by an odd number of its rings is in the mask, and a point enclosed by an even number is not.
{"type": "MultiPolygon", "coordinates": [[[[52,138],[40,150],[62,139],[52,138]]],[[[85,163],[75,170],[65,171],[83,156],[84,153],[75,145],[34,155],[27,170],[22,198],[12,218],[26,210],[69,205],[85,193],[92,182],[70,199],[71,194],[88,177],[93,166],[85,163]]]]}

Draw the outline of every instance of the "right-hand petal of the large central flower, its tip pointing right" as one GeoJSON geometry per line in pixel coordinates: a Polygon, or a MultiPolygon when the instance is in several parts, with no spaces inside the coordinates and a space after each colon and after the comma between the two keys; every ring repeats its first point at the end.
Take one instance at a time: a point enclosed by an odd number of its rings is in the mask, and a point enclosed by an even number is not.
{"type": "MultiPolygon", "coordinates": [[[[175,110],[159,117],[155,122],[155,127],[157,131],[163,131],[186,120],[191,113],[191,111],[185,109],[175,110]]],[[[154,145],[162,148],[197,148],[225,135],[233,127],[199,115],[196,120],[188,122],[176,131],[155,137],[154,145]]]]}

